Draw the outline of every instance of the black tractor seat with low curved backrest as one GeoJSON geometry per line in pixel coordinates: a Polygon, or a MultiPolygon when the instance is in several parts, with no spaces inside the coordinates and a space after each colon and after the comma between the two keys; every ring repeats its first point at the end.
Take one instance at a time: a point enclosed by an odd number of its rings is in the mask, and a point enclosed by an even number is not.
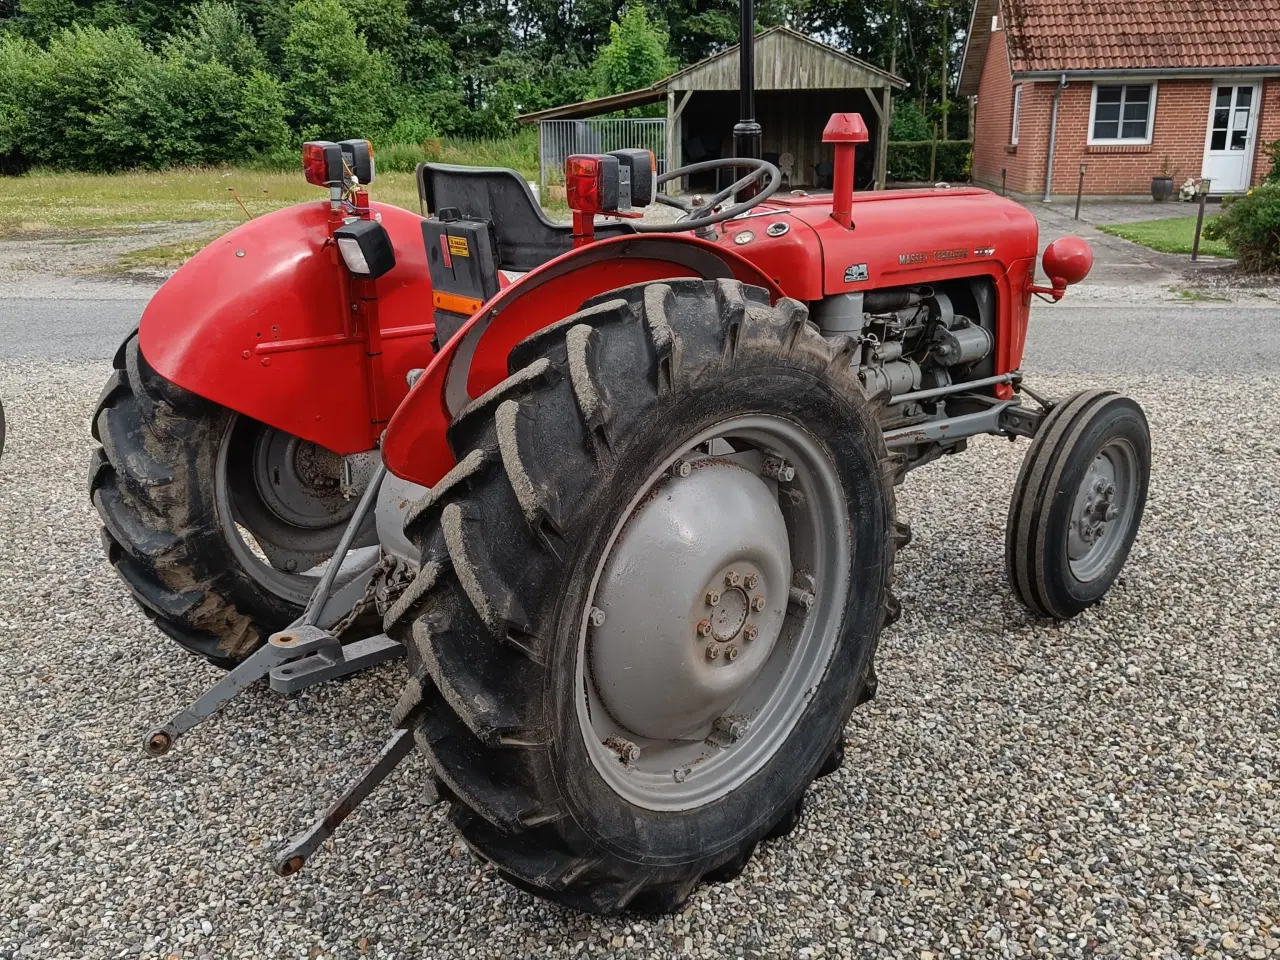
{"type": "MultiPolygon", "coordinates": [[[[573,248],[573,228],[547,218],[529,183],[500,166],[419,164],[417,195],[431,216],[449,207],[493,225],[499,270],[526,273],[573,248]]],[[[598,239],[634,233],[630,224],[600,224],[598,239]]]]}

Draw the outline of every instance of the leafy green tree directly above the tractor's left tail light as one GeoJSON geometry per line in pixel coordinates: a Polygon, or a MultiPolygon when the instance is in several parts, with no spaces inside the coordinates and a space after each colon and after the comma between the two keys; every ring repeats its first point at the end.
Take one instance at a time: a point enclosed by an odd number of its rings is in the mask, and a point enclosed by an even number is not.
{"type": "Polygon", "coordinates": [[[301,0],[284,40],[284,92],[302,140],[375,138],[389,123],[392,70],[339,0],[301,0]]]}

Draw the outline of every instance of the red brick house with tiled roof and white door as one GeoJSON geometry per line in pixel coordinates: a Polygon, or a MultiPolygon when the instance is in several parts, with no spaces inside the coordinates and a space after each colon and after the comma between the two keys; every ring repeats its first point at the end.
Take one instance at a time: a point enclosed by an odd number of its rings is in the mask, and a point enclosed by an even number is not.
{"type": "Polygon", "coordinates": [[[1243,192],[1280,140],[1280,0],[975,0],[973,179],[1024,197],[1243,192]],[[1056,118],[1056,119],[1055,119],[1056,118]]]}

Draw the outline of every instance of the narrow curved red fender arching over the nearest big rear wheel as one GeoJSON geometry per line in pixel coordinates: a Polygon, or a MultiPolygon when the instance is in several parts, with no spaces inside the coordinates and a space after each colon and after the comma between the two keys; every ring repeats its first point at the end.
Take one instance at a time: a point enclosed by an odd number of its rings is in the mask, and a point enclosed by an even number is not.
{"type": "Polygon", "coordinates": [[[512,347],[598,293],[677,276],[736,278],[782,296],[750,261],[690,236],[614,237],[564,253],[500,291],[436,355],[387,428],[387,468],[424,486],[438,483],[454,465],[445,429],[472,397],[507,378],[512,347]]]}

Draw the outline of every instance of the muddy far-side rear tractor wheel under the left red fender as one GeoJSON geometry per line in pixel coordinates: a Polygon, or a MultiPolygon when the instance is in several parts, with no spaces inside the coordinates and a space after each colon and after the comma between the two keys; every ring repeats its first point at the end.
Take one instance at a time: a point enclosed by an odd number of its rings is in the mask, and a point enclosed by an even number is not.
{"type": "Polygon", "coordinates": [[[297,618],[356,506],[340,457],[165,380],[136,334],[92,434],[104,549],[161,631],[230,668],[297,618]]]}

